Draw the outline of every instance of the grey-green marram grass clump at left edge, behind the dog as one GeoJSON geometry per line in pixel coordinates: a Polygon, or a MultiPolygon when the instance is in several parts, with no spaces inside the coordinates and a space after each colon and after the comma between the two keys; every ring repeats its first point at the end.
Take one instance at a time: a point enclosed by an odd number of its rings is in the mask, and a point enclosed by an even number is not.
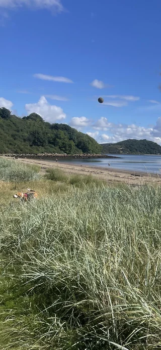
{"type": "Polygon", "coordinates": [[[0,158],[0,181],[23,182],[40,179],[40,167],[37,165],[25,165],[13,159],[0,158]]]}

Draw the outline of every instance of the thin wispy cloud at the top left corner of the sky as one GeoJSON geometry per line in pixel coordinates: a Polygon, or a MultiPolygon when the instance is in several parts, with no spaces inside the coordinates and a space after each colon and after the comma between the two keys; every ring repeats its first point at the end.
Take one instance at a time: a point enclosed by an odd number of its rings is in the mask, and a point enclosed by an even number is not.
{"type": "Polygon", "coordinates": [[[0,0],[0,7],[13,9],[28,6],[30,8],[51,9],[57,13],[63,11],[61,0],[0,0]]]}

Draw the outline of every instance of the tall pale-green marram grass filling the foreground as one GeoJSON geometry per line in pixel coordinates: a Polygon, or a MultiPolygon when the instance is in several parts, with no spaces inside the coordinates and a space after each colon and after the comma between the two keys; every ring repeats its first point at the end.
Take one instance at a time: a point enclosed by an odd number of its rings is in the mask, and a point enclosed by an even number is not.
{"type": "Polygon", "coordinates": [[[160,187],[1,209],[0,349],[161,348],[160,231],[160,187]]]}

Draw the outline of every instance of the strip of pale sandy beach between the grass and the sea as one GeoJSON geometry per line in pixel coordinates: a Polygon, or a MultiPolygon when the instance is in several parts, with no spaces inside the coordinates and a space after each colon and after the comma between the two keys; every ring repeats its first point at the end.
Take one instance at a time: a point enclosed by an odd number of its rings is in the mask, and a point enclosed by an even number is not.
{"type": "Polygon", "coordinates": [[[91,173],[93,176],[105,180],[108,183],[126,183],[131,185],[137,185],[149,182],[161,182],[161,176],[155,176],[153,174],[148,174],[147,172],[133,172],[127,170],[113,169],[110,166],[105,168],[89,165],[79,165],[68,162],[56,163],[55,161],[43,159],[20,159],[20,161],[26,164],[40,165],[41,172],[45,172],[46,169],[53,167],[62,169],[67,174],[87,175],[91,173]]]}

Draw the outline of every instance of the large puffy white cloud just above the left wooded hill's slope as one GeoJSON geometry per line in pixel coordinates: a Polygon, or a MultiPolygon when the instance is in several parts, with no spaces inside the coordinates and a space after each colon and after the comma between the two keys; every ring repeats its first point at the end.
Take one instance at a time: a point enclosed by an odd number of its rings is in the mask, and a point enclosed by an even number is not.
{"type": "Polygon", "coordinates": [[[66,114],[63,112],[61,107],[50,105],[45,96],[42,96],[37,103],[26,104],[25,108],[30,113],[37,113],[49,123],[54,123],[56,120],[66,118],[66,114]]]}

